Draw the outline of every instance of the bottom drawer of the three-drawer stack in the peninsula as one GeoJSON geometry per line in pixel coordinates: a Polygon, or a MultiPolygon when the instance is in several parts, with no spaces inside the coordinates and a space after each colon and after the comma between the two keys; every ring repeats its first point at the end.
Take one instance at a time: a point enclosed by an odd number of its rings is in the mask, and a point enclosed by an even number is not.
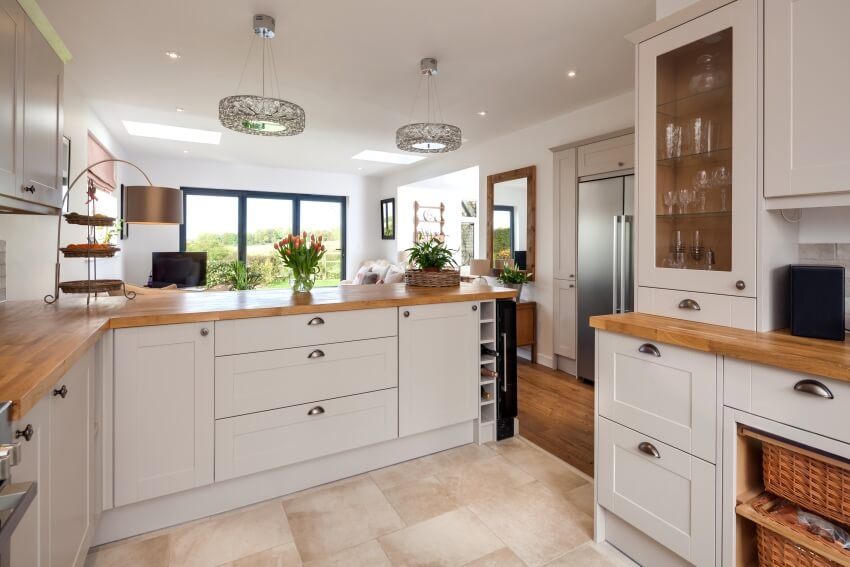
{"type": "Polygon", "coordinates": [[[215,422],[216,482],[398,437],[398,389],[215,422]]]}

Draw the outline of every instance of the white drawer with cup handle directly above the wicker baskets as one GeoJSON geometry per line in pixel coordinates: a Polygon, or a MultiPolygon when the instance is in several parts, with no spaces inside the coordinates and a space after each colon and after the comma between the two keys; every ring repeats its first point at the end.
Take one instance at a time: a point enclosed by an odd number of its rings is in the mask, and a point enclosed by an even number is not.
{"type": "Polygon", "coordinates": [[[724,358],[723,380],[727,406],[850,443],[850,382],[734,358],[724,358]]]}

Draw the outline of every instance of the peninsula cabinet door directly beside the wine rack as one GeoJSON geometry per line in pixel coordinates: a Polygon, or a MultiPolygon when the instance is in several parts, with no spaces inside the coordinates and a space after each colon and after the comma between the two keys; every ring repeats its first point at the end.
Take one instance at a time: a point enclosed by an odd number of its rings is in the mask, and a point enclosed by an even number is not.
{"type": "Polygon", "coordinates": [[[399,437],[478,417],[478,303],[399,308],[399,437]]]}

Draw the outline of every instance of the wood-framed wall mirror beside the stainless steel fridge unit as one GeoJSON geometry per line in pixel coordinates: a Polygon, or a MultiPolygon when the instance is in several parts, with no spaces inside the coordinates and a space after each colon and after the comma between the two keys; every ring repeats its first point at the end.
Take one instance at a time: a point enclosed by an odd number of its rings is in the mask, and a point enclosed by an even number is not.
{"type": "Polygon", "coordinates": [[[523,167],[487,176],[487,260],[534,275],[534,218],[537,168],[523,167]]]}

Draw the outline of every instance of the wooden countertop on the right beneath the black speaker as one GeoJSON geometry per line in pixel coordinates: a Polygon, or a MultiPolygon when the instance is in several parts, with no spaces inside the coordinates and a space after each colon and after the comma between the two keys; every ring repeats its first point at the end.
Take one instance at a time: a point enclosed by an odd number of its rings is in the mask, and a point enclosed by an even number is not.
{"type": "Polygon", "coordinates": [[[757,333],[669,317],[626,313],[590,318],[590,326],[703,352],[850,382],[850,342],[757,333]]]}

